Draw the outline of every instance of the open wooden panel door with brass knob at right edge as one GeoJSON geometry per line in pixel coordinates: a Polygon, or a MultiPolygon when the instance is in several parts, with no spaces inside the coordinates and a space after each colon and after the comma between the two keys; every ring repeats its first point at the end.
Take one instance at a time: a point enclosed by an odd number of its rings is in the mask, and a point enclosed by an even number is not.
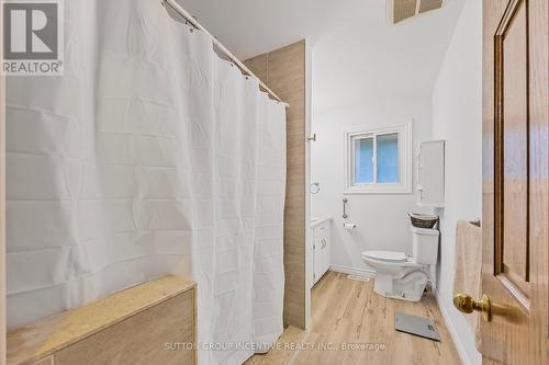
{"type": "Polygon", "coordinates": [[[549,363],[548,11],[483,2],[485,363],[549,363]]]}

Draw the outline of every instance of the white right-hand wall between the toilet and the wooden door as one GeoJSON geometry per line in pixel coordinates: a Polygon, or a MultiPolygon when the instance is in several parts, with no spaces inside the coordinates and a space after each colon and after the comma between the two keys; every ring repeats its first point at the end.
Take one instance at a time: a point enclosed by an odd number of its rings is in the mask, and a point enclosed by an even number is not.
{"type": "Polygon", "coordinates": [[[482,1],[466,1],[440,68],[433,92],[433,137],[447,140],[439,305],[462,361],[480,364],[474,335],[451,300],[456,223],[482,216],[482,1]]]}

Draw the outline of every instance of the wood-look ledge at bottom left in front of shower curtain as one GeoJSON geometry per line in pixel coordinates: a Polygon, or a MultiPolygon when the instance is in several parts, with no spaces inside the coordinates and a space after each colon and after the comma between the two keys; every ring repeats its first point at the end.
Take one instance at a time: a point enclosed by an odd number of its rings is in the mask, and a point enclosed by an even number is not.
{"type": "Polygon", "coordinates": [[[8,334],[8,365],[197,364],[197,284],[166,276],[8,334]]]}

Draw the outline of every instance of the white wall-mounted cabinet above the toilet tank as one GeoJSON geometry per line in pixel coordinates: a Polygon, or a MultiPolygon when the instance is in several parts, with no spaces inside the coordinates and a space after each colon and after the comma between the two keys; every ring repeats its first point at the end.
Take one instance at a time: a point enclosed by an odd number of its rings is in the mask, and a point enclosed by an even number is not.
{"type": "Polygon", "coordinates": [[[445,206],[445,141],[424,141],[417,150],[417,205],[445,206]]]}

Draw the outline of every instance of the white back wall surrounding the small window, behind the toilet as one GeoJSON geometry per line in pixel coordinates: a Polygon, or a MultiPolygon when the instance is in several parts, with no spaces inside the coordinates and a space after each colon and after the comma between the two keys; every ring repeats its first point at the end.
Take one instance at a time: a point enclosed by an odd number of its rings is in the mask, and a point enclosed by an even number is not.
{"type": "MultiPolygon", "coordinates": [[[[313,79],[314,82],[314,79],[313,79]]],[[[348,223],[358,228],[343,228],[344,130],[413,123],[414,146],[430,139],[430,94],[414,98],[369,100],[362,105],[314,114],[312,182],[321,183],[321,192],[312,196],[312,216],[334,217],[332,264],[366,269],[361,252],[394,250],[411,254],[410,218],[417,212],[415,194],[349,195],[348,223]]]]}

